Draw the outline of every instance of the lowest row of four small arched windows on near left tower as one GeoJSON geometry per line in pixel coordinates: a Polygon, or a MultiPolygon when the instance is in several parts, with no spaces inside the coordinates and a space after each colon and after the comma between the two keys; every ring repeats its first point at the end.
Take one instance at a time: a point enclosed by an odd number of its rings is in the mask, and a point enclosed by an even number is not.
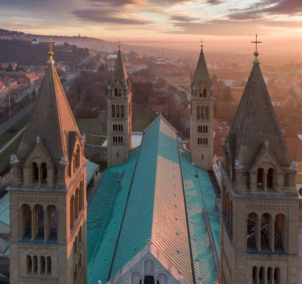
{"type": "Polygon", "coordinates": [[[27,255],[26,271],[27,274],[51,275],[51,258],[50,256],[40,256],[40,271],[38,271],[38,257],[36,255],[27,255]]]}

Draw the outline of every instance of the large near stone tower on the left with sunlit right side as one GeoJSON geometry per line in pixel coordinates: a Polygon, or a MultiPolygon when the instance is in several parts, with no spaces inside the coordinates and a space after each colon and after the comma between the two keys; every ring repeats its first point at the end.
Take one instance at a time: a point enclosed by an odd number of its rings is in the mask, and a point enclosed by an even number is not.
{"type": "Polygon", "coordinates": [[[11,156],[11,283],[86,283],[86,164],[49,53],[17,155],[11,156]]]}

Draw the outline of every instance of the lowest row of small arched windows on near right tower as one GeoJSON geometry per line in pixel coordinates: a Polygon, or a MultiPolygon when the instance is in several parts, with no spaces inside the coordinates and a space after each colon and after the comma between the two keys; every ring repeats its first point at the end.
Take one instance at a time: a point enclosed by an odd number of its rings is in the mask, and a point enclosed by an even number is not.
{"type": "Polygon", "coordinates": [[[274,284],[281,284],[281,277],[280,277],[280,268],[279,267],[268,267],[267,271],[263,266],[253,267],[252,272],[253,283],[257,284],[265,284],[265,283],[274,283],[274,284]]]}

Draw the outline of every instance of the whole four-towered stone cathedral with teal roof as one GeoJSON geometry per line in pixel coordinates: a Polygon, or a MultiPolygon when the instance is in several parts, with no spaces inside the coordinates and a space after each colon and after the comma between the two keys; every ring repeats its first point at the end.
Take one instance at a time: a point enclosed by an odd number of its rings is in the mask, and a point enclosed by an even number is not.
{"type": "Polygon", "coordinates": [[[299,283],[296,168],[257,51],[214,175],[203,47],[191,84],[189,152],[161,115],[131,147],[131,83],[119,46],[108,85],[108,167],[88,204],[85,136],[48,54],[11,157],[11,283],[299,283]]]}

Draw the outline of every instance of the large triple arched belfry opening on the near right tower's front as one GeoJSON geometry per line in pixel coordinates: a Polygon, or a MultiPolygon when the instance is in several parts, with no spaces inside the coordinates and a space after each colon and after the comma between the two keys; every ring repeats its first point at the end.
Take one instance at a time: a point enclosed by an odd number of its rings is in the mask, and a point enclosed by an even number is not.
{"type": "Polygon", "coordinates": [[[247,220],[247,249],[287,251],[286,218],[279,213],[274,218],[269,213],[261,218],[251,212],[247,220]]]}

